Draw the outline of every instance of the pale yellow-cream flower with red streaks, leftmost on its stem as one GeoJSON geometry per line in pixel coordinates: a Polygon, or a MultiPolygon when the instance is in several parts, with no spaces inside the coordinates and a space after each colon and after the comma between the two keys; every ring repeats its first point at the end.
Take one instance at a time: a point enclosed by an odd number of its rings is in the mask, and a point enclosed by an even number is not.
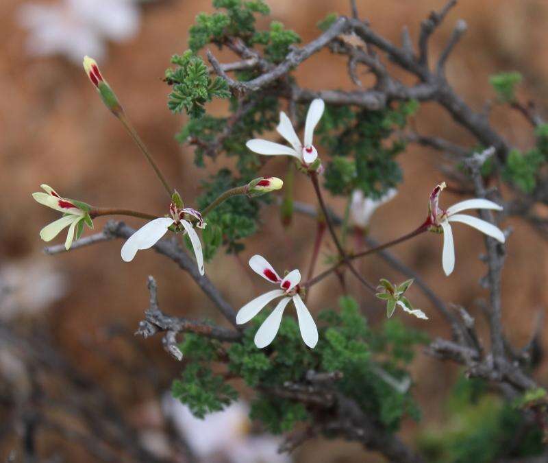
{"type": "Polygon", "coordinates": [[[51,207],[51,209],[64,214],[60,219],[42,228],[40,230],[40,238],[44,241],[51,241],[64,228],[69,227],[69,233],[66,234],[66,241],[64,243],[66,250],[69,250],[73,244],[75,234],[76,239],[82,235],[84,223],[89,228],[93,228],[93,222],[89,215],[89,206],[83,202],[61,198],[49,185],[44,184],[40,185],[40,187],[46,193],[42,193],[41,191],[39,193],[32,193],[32,198],[40,204],[44,204],[44,206],[51,207]]]}

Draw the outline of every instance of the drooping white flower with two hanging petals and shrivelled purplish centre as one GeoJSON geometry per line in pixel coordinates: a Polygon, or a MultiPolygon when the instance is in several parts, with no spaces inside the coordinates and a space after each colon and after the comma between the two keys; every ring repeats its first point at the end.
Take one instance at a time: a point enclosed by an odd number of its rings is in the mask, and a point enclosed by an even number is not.
{"type": "Polygon", "coordinates": [[[180,225],[182,227],[181,231],[188,233],[196,256],[198,270],[200,274],[203,275],[203,254],[200,239],[195,232],[192,223],[185,220],[183,217],[185,217],[185,215],[192,215],[192,217],[195,217],[198,220],[196,225],[198,228],[205,228],[206,222],[203,222],[201,214],[198,211],[191,209],[190,207],[178,209],[175,204],[171,203],[169,210],[171,212],[171,217],[160,217],[151,220],[151,222],[139,228],[127,239],[127,241],[125,241],[121,250],[123,261],[132,261],[138,250],[151,248],[166,234],[170,226],[175,225],[179,228],[180,225]]]}

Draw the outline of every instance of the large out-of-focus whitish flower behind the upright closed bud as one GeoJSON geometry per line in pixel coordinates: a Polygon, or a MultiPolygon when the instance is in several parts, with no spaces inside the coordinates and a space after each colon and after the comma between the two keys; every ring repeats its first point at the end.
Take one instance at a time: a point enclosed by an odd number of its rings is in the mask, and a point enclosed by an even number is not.
{"type": "Polygon", "coordinates": [[[30,32],[30,54],[63,55],[78,63],[86,54],[103,58],[106,40],[135,36],[140,10],[134,0],[61,0],[24,3],[18,17],[30,32]]]}

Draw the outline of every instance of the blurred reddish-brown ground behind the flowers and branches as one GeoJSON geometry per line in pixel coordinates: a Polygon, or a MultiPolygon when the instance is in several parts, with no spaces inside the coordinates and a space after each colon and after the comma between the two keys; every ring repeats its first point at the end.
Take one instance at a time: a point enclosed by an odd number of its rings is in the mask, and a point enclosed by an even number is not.
{"type": "MultiPolygon", "coordinates": [[[[408,25],[416,39],[420,21],[443,3],[357,1],[362,18],[395,42],[403,25],[408,25]]],[[[318,34],[316,22],[327,13],[349,14],[346,0],[275,0],[270,6],[271,16],[259,19],[260,23],[282,21],[305,43],[318,34]]],[[[184,407],[166,395],[183,365],[166,355],[160,337],[142,340],[133,335],[148,305],[149,274],[158,281],[160,307],[166,313],[216,319],[210,302],[192,280],[154,252],[141,252],[131,264],[124,263],[119,241],[55,257],[42,252],[45,244],[38,232],[58,215],[32,200],[31,193],[38,191],[41,183],[67,198],[98,206],[157,214],[166,211],[165,193],[151,169],[119,122],[99,102],[82,71],[84,54],[99,61],[142,139],[188,205],[193,205],[192,198],[208,171],[223,165],[198,169],[192,163],[192,148],[175,141],[184,118],[167,109],[169,88],[162,82],[171,55],[186,49],[187,31],[196,14],[212,10],[210,0],[0,2],[0,461],[23,461],[18,458],[33,427],[40,431],[32,444],[39,455],[49,458],[44,461],[116,461],[106,449],[93,448],[86,440],[81,421],[86,407],[102,407],[105,414],[114,416],[114,423],[116,416],[129,423],[131,429],[121,432],[120,442],[127,444],[127,436],[138,440],[144,461],[149,454],[173,462],[254,462],[258,455],[264,455],[259,461],[265,462],[381,461],[375,455],[364,457],[358,444],[327,440],[312,440],[291,457],[275,457],[279,442],[247,422],[245,403],[234,405],[223,417],[195,423],[184,407]],[[13,337],[21,342],[10,342],[13,337]],[[51,346],[51,352],[42,345],[51,346]],[[45,369],[49,375],[42,377],[42,370],[37,372],[36,366],[25,363],[27,355],[38,364],[49,365],[45,369]],[[49,415],[39,419],[32,407],[40,400],[40,388],[37,392],[33,384],[36,381],[47,384],[51,394],[47,400],[52,405],[49,415]],[[63,401],[55,407],[69,390],[76,391],[73,403],[69,406],[63,401]],[[219,440],[220,435],[225,440],[219,440]],[[253,449],[251,456],[245,454],[249,449],[253,449]]],[[[519,71],[525,82],[521,96],[534,98],[542,108],[548,97],[548,3],[462,1],[434,36],[432,54],[443,47],[457,19],[469,25],[448,66],[449,80],[460,95],[481,110],[494,97],[488,76],[519,71]]],[[[308,88],[353,88],[345,62],[328,55],[327,51],[317,54],[299,67],[296,75],[300,82],[306,82],[308,88]],[[327,59],[332,63],[329,68],[325,67],[327,59]]],[[[221,113],[225,106],[214,104],[211,110],[221,113]]],[[[514,145],[532,143],[532,132],[519,115],[495,108],[492,121],[514,145]]],[[[434,105],[424,105],[414,124],[423,134],[464,145],[474,143],[434,105]]],[[[401,189],[377,211],[371,225],[371,237],[381,241],[419,224],[429,192],[443,180],[440,167],[445,161],[436,152],[410,145],[400,160],[404,173],[401,189]]],[[[273,161],[268,168],[262,174],[284,176],[285,163],[273,161]]],[[[297,182],[296,191],[297,199],[312,203],[310,185],[299,188],[297,182]]],[[[457,199],[444,193],[443,204],[457,199]]],[[[343,210],[342,202],[329,202],[339,212],[343,210]]],[[[256,294],[253,284],[263,287],[251,283],[249,269],[242,265],[255,252],[269,257],[275,268],[303,269],[308,265],[312,220],[296,216],[284,234],[274,204],[264,209],[263,220],[262,232],[249,241],[240,259],[219,252],[207,265],[208,275],[235,307],[256,294]]],[[[104,222],[102,217],[96,219],[96,228],[104,222]]],[[[127,222],[140,224],[138,219],[127,222]]],[[[548,252],[529,226],[508,222],[505,225],[511,225],[514,233],[503,272],[503,319],[509,339],[522,346],[530,339],[536,315],[548,300],[548,252]]],[[[467,307],[481,327],[477,300],[486,294],[478,281],[485,267],[478,257],[484,241],[471,228],[456,226],[453,230],[457,259],[450,281],[440,265],[439,236],[421,235],[395,248],[395,253],[447,302],[467,307]]],[[[61,243],[62,236],[64,233],[55,243],[61,243]]],[[[375,257],[360,265],[371,281],[380,276],[403,279],[375,257]]],[[[352,292],[371,323],[382,322],[382,307],[360,287],[352,287],[352,292]]],[[[337,294],[336,278],[329,278],[314,289],[308,307],[312,313],[334,307],[337,294]]],[[[412,296],[430,320],[406,317],[406,324],[424,329],[432,337],[448,335],[448,327],[422,294],[415,289],[412,296]]],[[[543,342],[546,344],[546,337],[543,342]]],[[[459,371],[419,353],[412,372],[423,420],[404,424],[403,439],[411,443],[425,429],[444,423],[443,403],[459,371]]],[[[544,362],[538,370],[541,382],[546,373],[544,362]]],[[[242,391],[244,397],[249,394],[242,391]]]]}

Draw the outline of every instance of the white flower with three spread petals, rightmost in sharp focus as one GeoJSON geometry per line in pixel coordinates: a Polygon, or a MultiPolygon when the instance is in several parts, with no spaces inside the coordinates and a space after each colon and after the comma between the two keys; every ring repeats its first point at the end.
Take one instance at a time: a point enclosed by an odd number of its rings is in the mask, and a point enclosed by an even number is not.
{"type": "Polygon", "coordinates": [[[453,206],[444,211],[438,206],[439,196],[444,188],[445,182],[440,183],[430,195],[427,224],[429,224],[431,230],[443,231],[442,266],[445,274],[449,276],[453,272],[453,268],[455,268],[455,246],[453,244],[453,231],[451,230],[450,222],[461,222],[462,224],[469,225],[501,243],[505,241],[505,237],[502,230],[495,225],[471,215],[459,214],[461,211],[466,211],[467,209],[502,211],[502,206],[483,198],[474,198],[453,204],[453,206]]]}

